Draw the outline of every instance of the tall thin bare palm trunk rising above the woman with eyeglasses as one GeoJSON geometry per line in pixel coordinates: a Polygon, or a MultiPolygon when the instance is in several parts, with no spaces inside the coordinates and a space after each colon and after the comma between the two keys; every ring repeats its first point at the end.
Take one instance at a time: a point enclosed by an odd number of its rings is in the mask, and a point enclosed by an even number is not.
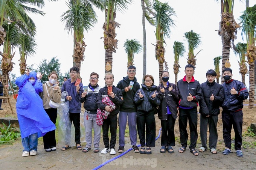
{"type": "Polygon", "coordinates": [[[145,4],[144,0],[142,0],[142,28],[143,28],[143,77],[142,83],[144,83],[144,77],[146,75],[146,65],[147,65],[147,48],[146,48],[146,27],[145,27],[145,4]]]}

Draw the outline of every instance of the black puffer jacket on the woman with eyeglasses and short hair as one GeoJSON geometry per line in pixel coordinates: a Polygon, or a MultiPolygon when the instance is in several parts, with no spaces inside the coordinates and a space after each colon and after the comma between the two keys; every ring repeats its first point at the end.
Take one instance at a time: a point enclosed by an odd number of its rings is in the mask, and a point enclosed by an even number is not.
{"type": "MultiPolygon", "coordinates": [[[[154,105],[154,107],[158,107],[160,104],[159,96],[156,95],[155,98],[151,97],[151,95],[154,94],[154,92],[157,90],[157,86],[153,85],[151,87],[147,87],[145,84],[142,84],[141,86],[142,86],[142,88],[137,90],[137,92],[134,96],[134,102],[137,104],[137,110],[151,111],[154,109],[152,107],[152,104],[154,105]],[[138,94],[139,91],[144,96],[143,98],[139,97],[139,94],[138,94]]],[[[155,92],[155,93],[157,93],[157,92],[155,92]]]]}

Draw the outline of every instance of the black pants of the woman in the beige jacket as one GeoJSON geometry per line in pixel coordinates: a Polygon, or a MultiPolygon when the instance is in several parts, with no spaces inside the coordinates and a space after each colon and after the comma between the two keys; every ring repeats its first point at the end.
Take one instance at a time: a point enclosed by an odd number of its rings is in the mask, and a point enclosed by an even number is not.
{"type": "MultiPolygon", "coordinates": [[[[50,117],[50,120],[54,125],[56,124],[56,119],[57,119],[57,109],[56,108],[49,108],[45,109],[46,113],[50,117]]],[[[47,132],[43,136],[43,141],[44,141],[44,149],[50,149],[52,147],[56,147],[56,138],[55,138],[55,130],[47,132]]]]}

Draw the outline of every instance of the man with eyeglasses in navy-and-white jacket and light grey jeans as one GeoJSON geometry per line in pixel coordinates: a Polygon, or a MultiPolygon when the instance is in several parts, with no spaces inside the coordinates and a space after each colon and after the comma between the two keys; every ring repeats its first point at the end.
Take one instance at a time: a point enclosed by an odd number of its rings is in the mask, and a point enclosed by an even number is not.
{"type": "Polygon", "coordinates": [[[98,97],[99,89],[102,87],[98,85],[99,74],[96,72],[92,72],[90,75],[90,84],[88,85],[88,92],[83,92],[79,98],[79,101],[84,102],[84,126],[85,126],[85,140],[86,146],[82,150],[83,152],[88,152],[91,150],[92,143],[92,129],[94,131],[94,140],[93,152],[99,152],[99,141],[101,139],[101,126],[98,126],[96,123],[97,118],[97,109],[98,106],[96,104],[96,100],[98,97]]]}

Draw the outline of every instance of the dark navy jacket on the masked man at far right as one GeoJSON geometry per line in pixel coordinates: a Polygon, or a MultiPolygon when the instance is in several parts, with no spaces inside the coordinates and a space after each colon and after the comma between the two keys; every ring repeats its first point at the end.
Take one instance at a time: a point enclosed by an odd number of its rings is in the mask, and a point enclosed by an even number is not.
{"type": "Polygon", "coordinates": [[[243,101],[248,98],[249,92],[244,84],[238,80],[226,81],[222,84],[224,89],[224,102],[222,104],[223,110],[236,111],[244,107],[243,101]],[[232,95],[230,90],[235,88],[238,95],[232,95]]]}

